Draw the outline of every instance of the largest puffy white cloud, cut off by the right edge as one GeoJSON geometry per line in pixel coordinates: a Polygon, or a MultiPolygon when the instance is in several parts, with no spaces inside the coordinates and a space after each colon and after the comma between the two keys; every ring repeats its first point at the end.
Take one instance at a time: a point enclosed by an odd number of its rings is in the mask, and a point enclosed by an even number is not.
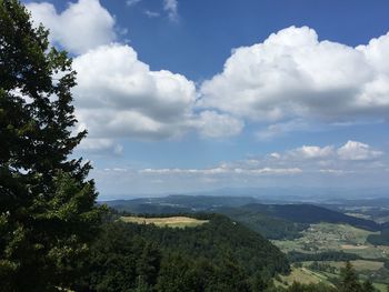
{"type": "Polygon", "coordinates": [[[255,122],[387,119],[388,43],[386,34],[352,48],[290,27],[233,50],[223,71],[202,83],[199,105],[255,122]]]}

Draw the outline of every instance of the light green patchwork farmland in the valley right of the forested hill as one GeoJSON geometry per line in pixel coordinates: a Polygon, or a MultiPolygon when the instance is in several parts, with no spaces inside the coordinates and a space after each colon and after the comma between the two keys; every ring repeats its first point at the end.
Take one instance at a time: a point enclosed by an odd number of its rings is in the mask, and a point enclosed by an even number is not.
{"type": "MultiPolygon", "coordinates": [[[[389,246],[372,245],[367,242],[369,234],[377,234],[347,224],[319,223],[311,224],[301,232],[302,236],[295,240],[272,241],[283,252],[301,252],[315,254],[328,251],[343,251],[359,255],[360,260],[351,261],[361,280],[373,280],[379,291],[387,291],[389,271],[385,268],[385,259],[389,259],[389,246]]],[[[340,275],[345,262],[341,261],[306,261],[293,266],[292,273],[281,276],[277,283],[289,285],[299,280],[303,283],[331,283],[331,279],[340,275]]]]}

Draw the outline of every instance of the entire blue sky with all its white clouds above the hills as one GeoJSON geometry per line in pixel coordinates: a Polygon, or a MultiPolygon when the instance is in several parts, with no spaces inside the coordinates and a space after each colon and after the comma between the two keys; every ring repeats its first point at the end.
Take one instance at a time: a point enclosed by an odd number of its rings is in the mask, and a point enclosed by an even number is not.
{"type": "Polygon", "coordinates": [[[101,198],[388,189],[388,1],[26,3],[74,58],[101,198]]]}

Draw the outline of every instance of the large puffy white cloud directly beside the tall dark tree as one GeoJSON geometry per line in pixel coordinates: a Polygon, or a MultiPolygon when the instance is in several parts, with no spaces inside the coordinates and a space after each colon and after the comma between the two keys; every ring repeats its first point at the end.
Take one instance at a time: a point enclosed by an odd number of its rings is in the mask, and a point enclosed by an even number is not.
{"type": "Polygon", "coordinates": [[[151,71],[129,46],[102,46],[73,61],[77,114],[92,138],[170,138],[193,118],[193,82],[151,71]]]}

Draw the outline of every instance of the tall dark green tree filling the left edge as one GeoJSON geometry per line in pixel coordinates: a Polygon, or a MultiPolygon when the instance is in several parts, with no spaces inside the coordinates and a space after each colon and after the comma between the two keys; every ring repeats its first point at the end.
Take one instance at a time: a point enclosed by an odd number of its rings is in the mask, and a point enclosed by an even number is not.
{"type": "Polygon", "coordinates": [[[100,209],[81,159],[76,72],[18,0],[0,0],[0,282],[7,291],[69,286],[100,209]]]}

